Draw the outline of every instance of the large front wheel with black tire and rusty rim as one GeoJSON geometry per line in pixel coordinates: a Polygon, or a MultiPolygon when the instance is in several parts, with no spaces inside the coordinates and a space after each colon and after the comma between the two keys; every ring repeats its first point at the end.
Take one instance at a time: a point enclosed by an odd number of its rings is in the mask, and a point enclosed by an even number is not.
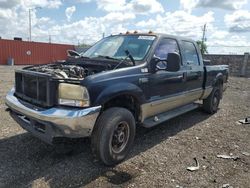
{"type": "Polygon", "coordinates": [[[92,132],[92,152],[104,164],[113,166],[126,158],[134,137],[133,114],[125,108],[109,108],[100,115],[92,132]]]}

